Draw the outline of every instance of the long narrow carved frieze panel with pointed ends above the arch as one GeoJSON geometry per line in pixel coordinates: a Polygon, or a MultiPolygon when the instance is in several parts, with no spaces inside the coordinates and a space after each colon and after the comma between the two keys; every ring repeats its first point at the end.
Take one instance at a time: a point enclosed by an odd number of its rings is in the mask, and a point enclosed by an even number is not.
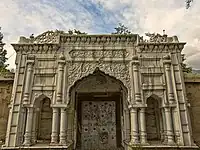
{"type": "Polygon", "coordinates": [[[71,50],[72,58],[125,58],[129,53],[124,49],[115,50],[71,50]]]}

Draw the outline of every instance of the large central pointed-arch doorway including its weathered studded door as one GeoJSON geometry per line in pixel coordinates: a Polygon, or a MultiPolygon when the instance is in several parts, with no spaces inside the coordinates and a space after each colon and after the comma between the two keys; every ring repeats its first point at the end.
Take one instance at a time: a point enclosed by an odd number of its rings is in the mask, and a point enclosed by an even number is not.
{"type": "Polygon", "coordinates": [[[124,131],[128,130],[124,123],[129,123],[124,119],[126,93],[120,81],[100,70],[75,85],[70,105],[76,110],[76,149],[123,147],[124,131]]]}

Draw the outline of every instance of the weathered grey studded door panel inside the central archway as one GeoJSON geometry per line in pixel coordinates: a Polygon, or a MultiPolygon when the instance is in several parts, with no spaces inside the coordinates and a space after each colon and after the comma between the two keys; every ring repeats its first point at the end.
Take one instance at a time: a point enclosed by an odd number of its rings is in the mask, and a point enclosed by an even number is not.
{"type": "Polygon", "coordinates": [[[81,148],[111,149],[117,147],[116,102],[81,102],[81,148]]]}

